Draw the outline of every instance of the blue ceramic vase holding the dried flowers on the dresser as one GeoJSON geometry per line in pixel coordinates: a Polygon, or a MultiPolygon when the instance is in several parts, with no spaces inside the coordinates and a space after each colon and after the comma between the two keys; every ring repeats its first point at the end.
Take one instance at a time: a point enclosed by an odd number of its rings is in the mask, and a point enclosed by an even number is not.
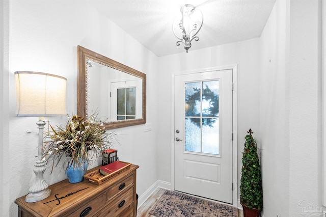
{"type": "Polygon", "coordinates": [[[68,177],[69,182],[77,183],[83,181],[84,175],[87,171],[87,166],[88,164],[86,160],[84,160],[84,164],[82,164],[82,160],[79,160],[79,164],[75,166],[70,160],[66,170],[66,175],[68,177]]]}

